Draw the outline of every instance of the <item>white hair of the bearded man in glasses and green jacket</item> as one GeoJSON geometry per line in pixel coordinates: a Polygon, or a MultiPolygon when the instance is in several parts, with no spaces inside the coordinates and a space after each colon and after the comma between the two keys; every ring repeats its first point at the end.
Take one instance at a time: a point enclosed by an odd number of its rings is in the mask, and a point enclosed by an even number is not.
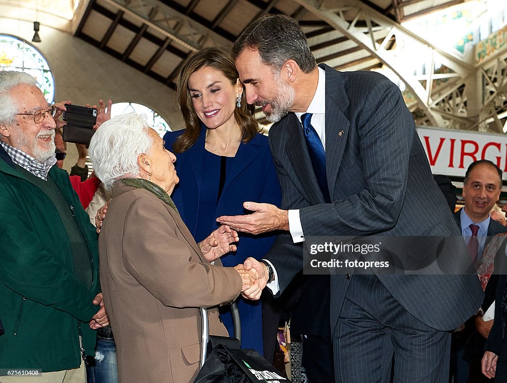
{"type": "Polygon", "coordinates": [[[0,124],[12,124],[18,113],[10,95],[11,89],[18,85],[37,86],[37,80],[23,72],[0,71],[0,124]]]}

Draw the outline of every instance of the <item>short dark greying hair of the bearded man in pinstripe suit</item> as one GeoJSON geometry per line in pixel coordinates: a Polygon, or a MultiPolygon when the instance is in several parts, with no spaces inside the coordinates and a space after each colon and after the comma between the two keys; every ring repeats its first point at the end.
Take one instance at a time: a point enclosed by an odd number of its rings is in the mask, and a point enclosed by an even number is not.
{"type": "Polygon", "coordinates": [[[287,60],[296,61],[304,73],[317,65],[298,22],[286,15],[263,16],[248,25],[232,47],[234,60],[245,49],[257,49],[262,63],[275,71],[287,60]]]}

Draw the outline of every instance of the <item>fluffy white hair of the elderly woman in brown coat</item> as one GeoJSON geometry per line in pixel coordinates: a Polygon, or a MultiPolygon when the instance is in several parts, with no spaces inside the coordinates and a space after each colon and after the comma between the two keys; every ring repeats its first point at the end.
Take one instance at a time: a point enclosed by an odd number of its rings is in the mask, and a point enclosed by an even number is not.
{"type": "Polygon", "coordinates": [[[149,153],[153,141],[143,116],[128,113],[104,122],[93,134],[88,154],[106,189],[115,181],[139,174],[137,157],[149,153]]]}

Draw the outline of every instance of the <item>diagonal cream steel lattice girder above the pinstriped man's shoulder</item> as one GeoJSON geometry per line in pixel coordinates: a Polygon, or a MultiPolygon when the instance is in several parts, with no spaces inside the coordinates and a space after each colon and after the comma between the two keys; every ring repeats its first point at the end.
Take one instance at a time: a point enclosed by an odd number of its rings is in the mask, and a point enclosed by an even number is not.
{"type": "Polygon", "coordinates": [[[414,115],[418,124],[449,128],[474,125],[477,115],[470,116],[467,113],[466,88],[470,82],[476,83],[476,70],[472,64],[464,61],[459,52],[446,52],[438,48],[359,0],[293,1],[329,23],[390,68],[413,94],[415,102],[409,108],[417,112],[414,115]],[[358,20],[365,20],[366,28],[357,27],[358,20]],[[385,38],[378,43],[373,38],[373,32],[378,33],[380,29],[384,30],[385,38]],[[396,49],[388,51],[386,44],[393,36],[396,49]],[[403,48],[414,45],[418,46],[421,54],[412,57],[412,61],[424,64],[426,71],[422,77],[414,75],[413,66],[406,65],[407,58],[403,56],[403,48]],[[436,73],[435,62],[445,65],[449,73],[436,73]]]}

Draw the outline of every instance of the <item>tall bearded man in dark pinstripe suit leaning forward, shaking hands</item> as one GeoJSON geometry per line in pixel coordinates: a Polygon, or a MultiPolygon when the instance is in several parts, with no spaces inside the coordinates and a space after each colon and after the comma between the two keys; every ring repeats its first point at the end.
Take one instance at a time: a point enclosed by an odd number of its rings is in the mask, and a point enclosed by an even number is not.
{"type": "Polygon", "coordinates": [[[330,325],[338,382],[387,382],[393,360],[396,382],[447,381],[449,330],[476,312],[483,292],[400,90],[377,73],[317,67],[287,16],[254,21],[233,56],[247,101],[276,122],[269,141],[282,209],[245,202],[253,214],[218,220],[253,234],[286,230],[265,260],[245,262],[260,280],[244,295],[259,299],[267,285],[278,296],[303,267],[306,238],[411,236],[401,254],[408,259],[422,236],[445,237],[440,256],[452,256],[468,274],[386,275],[372,268],[360,275],[351,268],[332,275],[330,325]],[[325,151],[325,182],[306,113],[325,151]]]}

